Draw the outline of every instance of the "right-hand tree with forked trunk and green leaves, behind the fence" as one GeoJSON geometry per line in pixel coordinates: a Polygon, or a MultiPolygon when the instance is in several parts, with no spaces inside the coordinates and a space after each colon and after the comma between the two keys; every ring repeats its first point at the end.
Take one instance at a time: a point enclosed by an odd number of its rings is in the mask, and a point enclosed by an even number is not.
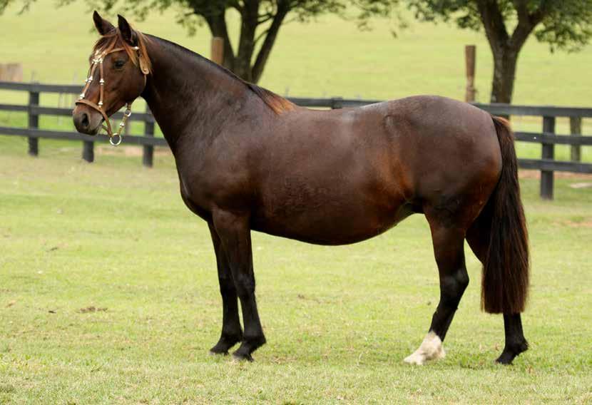
{"type": "Polygon", "coordinates": [[[511,103],[518,56],[531,34],[551,51],[576,51],[592,36],[592,0],[407,0],[407,5],[422,21],[484,29],[494,57],[492,103],[511,103]]]}

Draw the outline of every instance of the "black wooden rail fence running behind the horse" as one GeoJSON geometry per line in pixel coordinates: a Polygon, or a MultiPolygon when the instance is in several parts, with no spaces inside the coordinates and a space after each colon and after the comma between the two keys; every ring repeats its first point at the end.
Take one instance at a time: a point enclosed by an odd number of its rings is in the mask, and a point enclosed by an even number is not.
{"type": "MultiPolygon", "coordinates": [[[[0,81],[0,90],[26,91],[29,93],[28,105],[1,104],[0,111],[21,111],[28,113],[28,128],[0,126],[0,135],[17,135],[29,138],[29,155],[39,154],[39,138],[81,140],[83,142],[82,158],[88,162],[94,160],[94,143],[108,142],[107,137],[81,135],[76,132],[39,129],[39,116],[71,116],[71,108],[53,108],[39,106],[40,93],[78,94],[81,86],[52,85],[39,83],[12,83],[0,81]]],[[[371,100],[348,100],[345,98],[290,98],[298,106],[315,108],[347,108],[366,106],[378,103],[371,100]]],[[[519,159],[521,168],[541,170],[541,197],[553,198],[553,172],[592,173],[592,164],[581,163],[579,160],[582,145],[592,145],[592,136],[581,135],[582,118],[592,118],[592,108],[567,108],[546,106],[512,106],[507,104],[475,104],[475,106],[497,116],[541,116],[543,128],[541,133],[516,132],[516,140],[540,143],[541,159],[519,159]],[[572,135],[556,135],[555,121],[557,117],[569,117],[572,135]],[[577,136],[574,136],[577,135],[577,136]],[[571,145],[572,161],[555,160],[555,145],[571,145]]],[[[122,113],[116,113],[114,119],[120,120],[122,113]]],[[[127,145],[143,145],[143,164],[153,164],[155,146],[165,146],[163,138],[154,137],[155,121],[148,109],[143,113],[133,113],[131,121],[144,123],[144,135],[126,135],[127,145]]]]}

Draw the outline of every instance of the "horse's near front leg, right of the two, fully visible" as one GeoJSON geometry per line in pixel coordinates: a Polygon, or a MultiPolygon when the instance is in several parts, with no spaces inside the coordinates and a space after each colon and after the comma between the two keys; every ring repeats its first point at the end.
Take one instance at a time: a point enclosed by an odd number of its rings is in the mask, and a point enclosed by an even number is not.
{"type": "Polygon", "coordinates": [[[265,344],[265,336],[255,301],[249,216],[217,210],[213,213],[213,225],[226,253],[243,309],[243,342],[233,353],[233,357],[252,362],[251,354],[265,344]]]}

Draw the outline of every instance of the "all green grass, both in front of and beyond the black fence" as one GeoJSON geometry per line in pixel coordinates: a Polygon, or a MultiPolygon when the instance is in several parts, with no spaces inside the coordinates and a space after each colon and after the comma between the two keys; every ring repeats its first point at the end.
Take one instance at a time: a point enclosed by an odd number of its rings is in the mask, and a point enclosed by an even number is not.
{"type": "MultiPolygon", "coordinates": [[[[24,16],[0,16],[0,59],[22,61],[25,78],[81,82],[96,34],[83,4],[39,0],[24,16]]],[[[207,31],[188,38],[168,16],[143,31],[209,54],[207,31]]],[[[392,39],[376,21],[360,33],[333,17],[280,31],[261,85],[291,96],[464,96],[463,46],[476,43],[479,101],[489,100],[491,55],[482,34],[412,24],[392,39]]],[[[551,55],[529,41],[514,102],[591,106],[592,48],[551,55]]],[[[2,103],[26,103],[0,92],[2,103]]],[[[56,106],[57,98],[41,103],[56,106]]],[[[141,107],[136,106],[137,111],[141,107]]],[[[19,114],[0,124],[26,125],[19,114]]],[[[43,117],[44,128],[71,128],[43,117]]],[[[540,120],[514,120],[540,130],[540,120]]],[[[139,126],[139,125],[138,125],[139,126]]],[[[135,128],[139,130],[140,128],[135,128]]],[[[558,123],[566,132],[566,121],[558,123]]],[[[591,133],[585,121],[584,132],[591,133]]],[[[590,148],[583,148],[591,161],[590,148]]],[[[0,403],[384,403],[388,401],[590,403],[592,189],[558,178],[556,200],[521,180],[531,232],[531,350],[512,367],[493,364],[501,317],[479,312],[480,269],[467,249],[471,284],[451,326],[443,362],[402,364],[437,305],[429,229],[414,216],[347,247],[254,235],[260,314],[268,344],[255,364],[210,357],[220,297],[205,223],[185,209],[174,162],[141,167],[136,148],[0,136],[0,403]],[[85,312],[95,307],[106,309],[85,312]]],[[[556,148],[558,158],[567,148],[556,148]]],[[[539,145],[523,145],[540,157],[539,145]]]]}

